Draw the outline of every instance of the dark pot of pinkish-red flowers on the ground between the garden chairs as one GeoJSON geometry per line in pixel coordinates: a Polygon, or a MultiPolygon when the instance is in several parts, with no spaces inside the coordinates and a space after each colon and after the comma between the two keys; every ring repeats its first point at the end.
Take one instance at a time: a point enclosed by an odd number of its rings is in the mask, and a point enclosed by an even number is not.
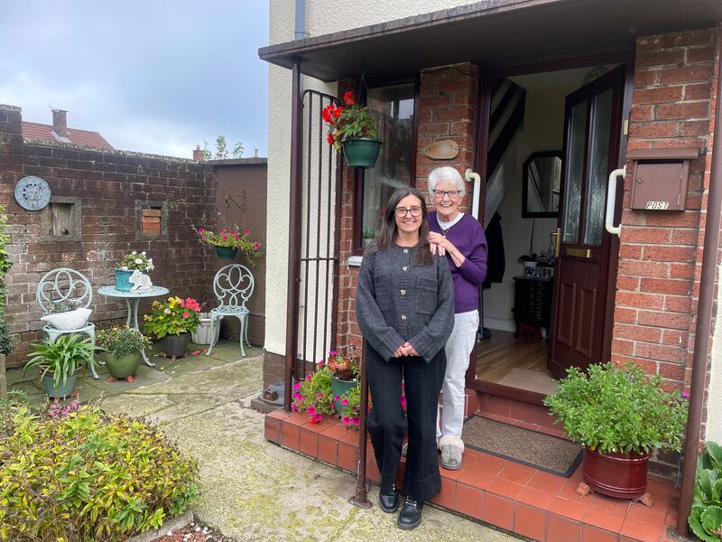
{"type": "Polygon", "coordinates": [[[161,339],[166,357],[175,361],[186,354],[190,332],[196,331],[200,323],[199,313],[200,304],[191,297],[154,301],[151,313],[143,315],[144,331],[161,339]]]}

